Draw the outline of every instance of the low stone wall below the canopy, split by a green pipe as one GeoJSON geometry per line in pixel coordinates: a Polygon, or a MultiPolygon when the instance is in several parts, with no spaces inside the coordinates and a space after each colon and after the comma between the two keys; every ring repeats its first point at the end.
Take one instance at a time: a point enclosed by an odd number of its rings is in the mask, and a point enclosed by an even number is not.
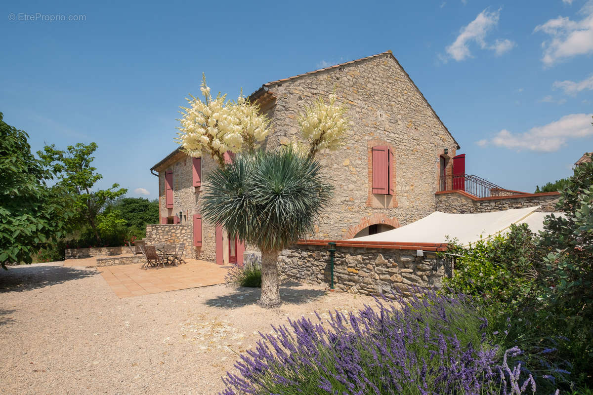
{"type": "MultiPolygon", "coordinates": [[[[416,256],[416,250],[337,247],[334,256],[334,287],[355,294],[409,295],[410,285],[441,287],[450,275],[448,263],[435,252],[416,256]]],[[[330,284],[327,246],[296,245],[278,259],[280,273],[298,281],[330,284]]]]}

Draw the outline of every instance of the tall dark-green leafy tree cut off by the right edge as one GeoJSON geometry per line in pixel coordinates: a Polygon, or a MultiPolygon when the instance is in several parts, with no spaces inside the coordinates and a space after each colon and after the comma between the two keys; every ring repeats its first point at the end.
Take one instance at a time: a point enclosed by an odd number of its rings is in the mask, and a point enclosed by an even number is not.
{"type": "MultiPolygon", "coordinates": [[[[541,301],[563,333],[572,342],[576,371],[586,372],[593,364],[593,162],[576,166],[566,187],[560,191],[556,209],[544,222],[540,245],[543,257],[540,272],[541,301]]],[[[589,375],[588,384],[593,384],[589,375]]]]}

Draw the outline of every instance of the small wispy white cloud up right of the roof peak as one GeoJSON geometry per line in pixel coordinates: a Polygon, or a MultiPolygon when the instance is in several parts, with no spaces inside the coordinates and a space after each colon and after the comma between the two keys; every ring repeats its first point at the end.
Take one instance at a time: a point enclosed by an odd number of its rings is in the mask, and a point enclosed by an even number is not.
{"type": "Polygon", "coordinates": [[[500,9],[495,12],[484,9],[476,19],[461,28],[459,36],[455,38],[451,45],[445,48],[445,52],[457,62],[471,57],[470,44],[473,42],[478,44],[481,49],[493,50],[497,55],[508,52],[515,46],[515,43],[511,40],[497,39],[493,45],[486,43],[486,34],[498,25],[499,18],[500,9]]]}

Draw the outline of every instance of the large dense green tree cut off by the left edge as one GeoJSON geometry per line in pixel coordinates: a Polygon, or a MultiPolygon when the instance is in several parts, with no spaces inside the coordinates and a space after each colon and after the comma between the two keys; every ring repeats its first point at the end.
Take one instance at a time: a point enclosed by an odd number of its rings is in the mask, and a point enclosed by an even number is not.
{"type": "Polygon", "coordinates": [[[0,265],[25,262],[65,232],[69,197],[48,188],[52,172],[31,154],[28,134],[0,113],[0,265]]]}

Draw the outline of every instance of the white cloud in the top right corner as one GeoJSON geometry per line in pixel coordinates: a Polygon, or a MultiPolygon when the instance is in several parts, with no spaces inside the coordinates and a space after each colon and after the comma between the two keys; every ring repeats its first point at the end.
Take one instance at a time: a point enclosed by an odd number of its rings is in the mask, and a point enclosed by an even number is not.
{"type": "Polygon", "coordinates": [[[584,16],[578,21],[557,17],[535,27],[534,31],[550,36],[550,40],[541,43],[544,65],[551,66],[559,60],[593,53],[593,0],[586,2],[579,14],[584,16]]]}

